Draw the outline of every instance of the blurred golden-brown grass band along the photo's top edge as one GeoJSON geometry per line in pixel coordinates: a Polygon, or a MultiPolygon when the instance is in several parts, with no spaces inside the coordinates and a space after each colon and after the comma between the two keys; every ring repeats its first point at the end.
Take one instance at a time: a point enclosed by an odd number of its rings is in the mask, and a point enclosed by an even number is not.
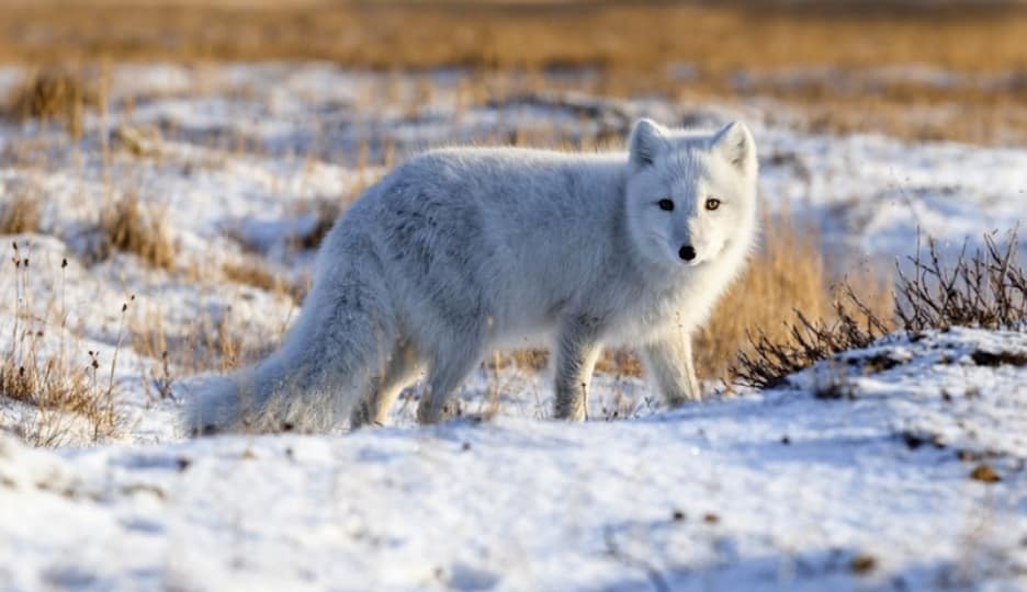
{"type": "Polygon", "coordinates": [[[600,66],[661,73],[684,61],[714,76],[822,65],[930,64],[964,71],[1027,65],[1020,43],[1027,12],[1020,8],[900,4],[5,3],[0,58],[315,58],[382,68],[600,66]]]}

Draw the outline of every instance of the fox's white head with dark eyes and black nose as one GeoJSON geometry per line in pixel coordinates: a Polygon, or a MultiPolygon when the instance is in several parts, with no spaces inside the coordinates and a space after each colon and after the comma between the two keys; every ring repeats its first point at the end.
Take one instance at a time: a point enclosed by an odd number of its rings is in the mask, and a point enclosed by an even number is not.
{"type": "Polygon", "coordinates": [[[688,270],[748,250],[757,162],[745,124],[702,134],[640,119],[628,145],[628,231],[641,257],[688,270]]]}

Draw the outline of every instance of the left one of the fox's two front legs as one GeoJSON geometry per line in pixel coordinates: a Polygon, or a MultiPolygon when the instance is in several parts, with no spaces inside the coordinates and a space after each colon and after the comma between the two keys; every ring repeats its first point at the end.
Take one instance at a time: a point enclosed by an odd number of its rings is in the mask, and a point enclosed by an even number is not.
{"type": "Polygon", "coordinates": [[[588,397],[588,383],[601,350],[599,320],[578,315],[561,323],[556,344],[556,418],[582,421],[588,397]]]}

